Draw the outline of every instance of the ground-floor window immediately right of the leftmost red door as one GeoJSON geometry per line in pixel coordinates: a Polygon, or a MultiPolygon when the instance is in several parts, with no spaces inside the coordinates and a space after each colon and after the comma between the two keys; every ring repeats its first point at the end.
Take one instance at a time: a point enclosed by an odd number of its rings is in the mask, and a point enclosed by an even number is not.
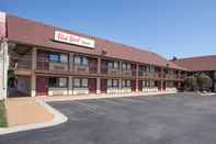
{"type": "Polygon", "coordinates": [[[50,88],[67,88],[67,86],[68,86],[67,78],[50,77],[48,79],[48,87],[50,87],[50,88]]]}

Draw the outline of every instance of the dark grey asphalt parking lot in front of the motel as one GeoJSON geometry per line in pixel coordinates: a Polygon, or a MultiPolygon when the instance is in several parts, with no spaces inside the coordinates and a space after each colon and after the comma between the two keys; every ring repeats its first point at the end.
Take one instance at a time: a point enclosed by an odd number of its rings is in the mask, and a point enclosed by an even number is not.
{"type": "Polygon", "coordinates": [[[68,122],[0,144],[215,144],[216,97],[178,93],[52,102],[68,122]]]}

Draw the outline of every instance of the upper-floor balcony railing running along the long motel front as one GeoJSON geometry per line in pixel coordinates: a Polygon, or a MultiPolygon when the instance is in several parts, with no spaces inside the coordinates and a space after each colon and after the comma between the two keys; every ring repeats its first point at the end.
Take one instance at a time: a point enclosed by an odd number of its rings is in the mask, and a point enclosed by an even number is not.
{"type": "MultiPolygon", "coordinates": [[[[10,69],[32,69],[32,57],[31,56],[10,56],[10,69]]],[[[96,74],[98,65],[73,65],[69,66],[69,63],[54,63],[49,62],[47,58],[37,58],[36,64],[37,70],[50,70],[50,71],[67,71],[67,73],[76,73],[76,74],[96,74]],[[71,69],[70,69],[71,68],[71,69]]],[[[136,76],[136,69],[132,70],[120,70],[115,68],[107,68],[106,66],[101,67],[101,74],[107,76],[116,76],[116,77],[134,77],[136,76]]],[[[184,79],[186,74],[161,74],[154,71],[144,71],[139,70],[138,76],[143,78],[166,78],[166,79],[184,79]]]]}

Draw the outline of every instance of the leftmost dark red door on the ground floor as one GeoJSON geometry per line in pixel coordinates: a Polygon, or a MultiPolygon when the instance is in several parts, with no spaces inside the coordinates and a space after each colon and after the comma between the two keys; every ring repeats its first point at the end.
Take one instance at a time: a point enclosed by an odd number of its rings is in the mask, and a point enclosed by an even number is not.
{"type": "Polygon", "coordinates": [[[38,76],[36,77],[36,96],[48,95],[48,77],[38,76]]]}

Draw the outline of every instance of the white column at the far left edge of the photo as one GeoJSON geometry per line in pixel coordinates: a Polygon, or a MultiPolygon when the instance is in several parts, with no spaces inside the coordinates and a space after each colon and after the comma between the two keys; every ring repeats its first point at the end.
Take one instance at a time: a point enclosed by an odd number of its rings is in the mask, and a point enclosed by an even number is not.
{"type": "Polygon", "coordinates": [[[0,99],[7,99],[8,96],[8,42],[5,40],[0,41],[0,99]]]}

